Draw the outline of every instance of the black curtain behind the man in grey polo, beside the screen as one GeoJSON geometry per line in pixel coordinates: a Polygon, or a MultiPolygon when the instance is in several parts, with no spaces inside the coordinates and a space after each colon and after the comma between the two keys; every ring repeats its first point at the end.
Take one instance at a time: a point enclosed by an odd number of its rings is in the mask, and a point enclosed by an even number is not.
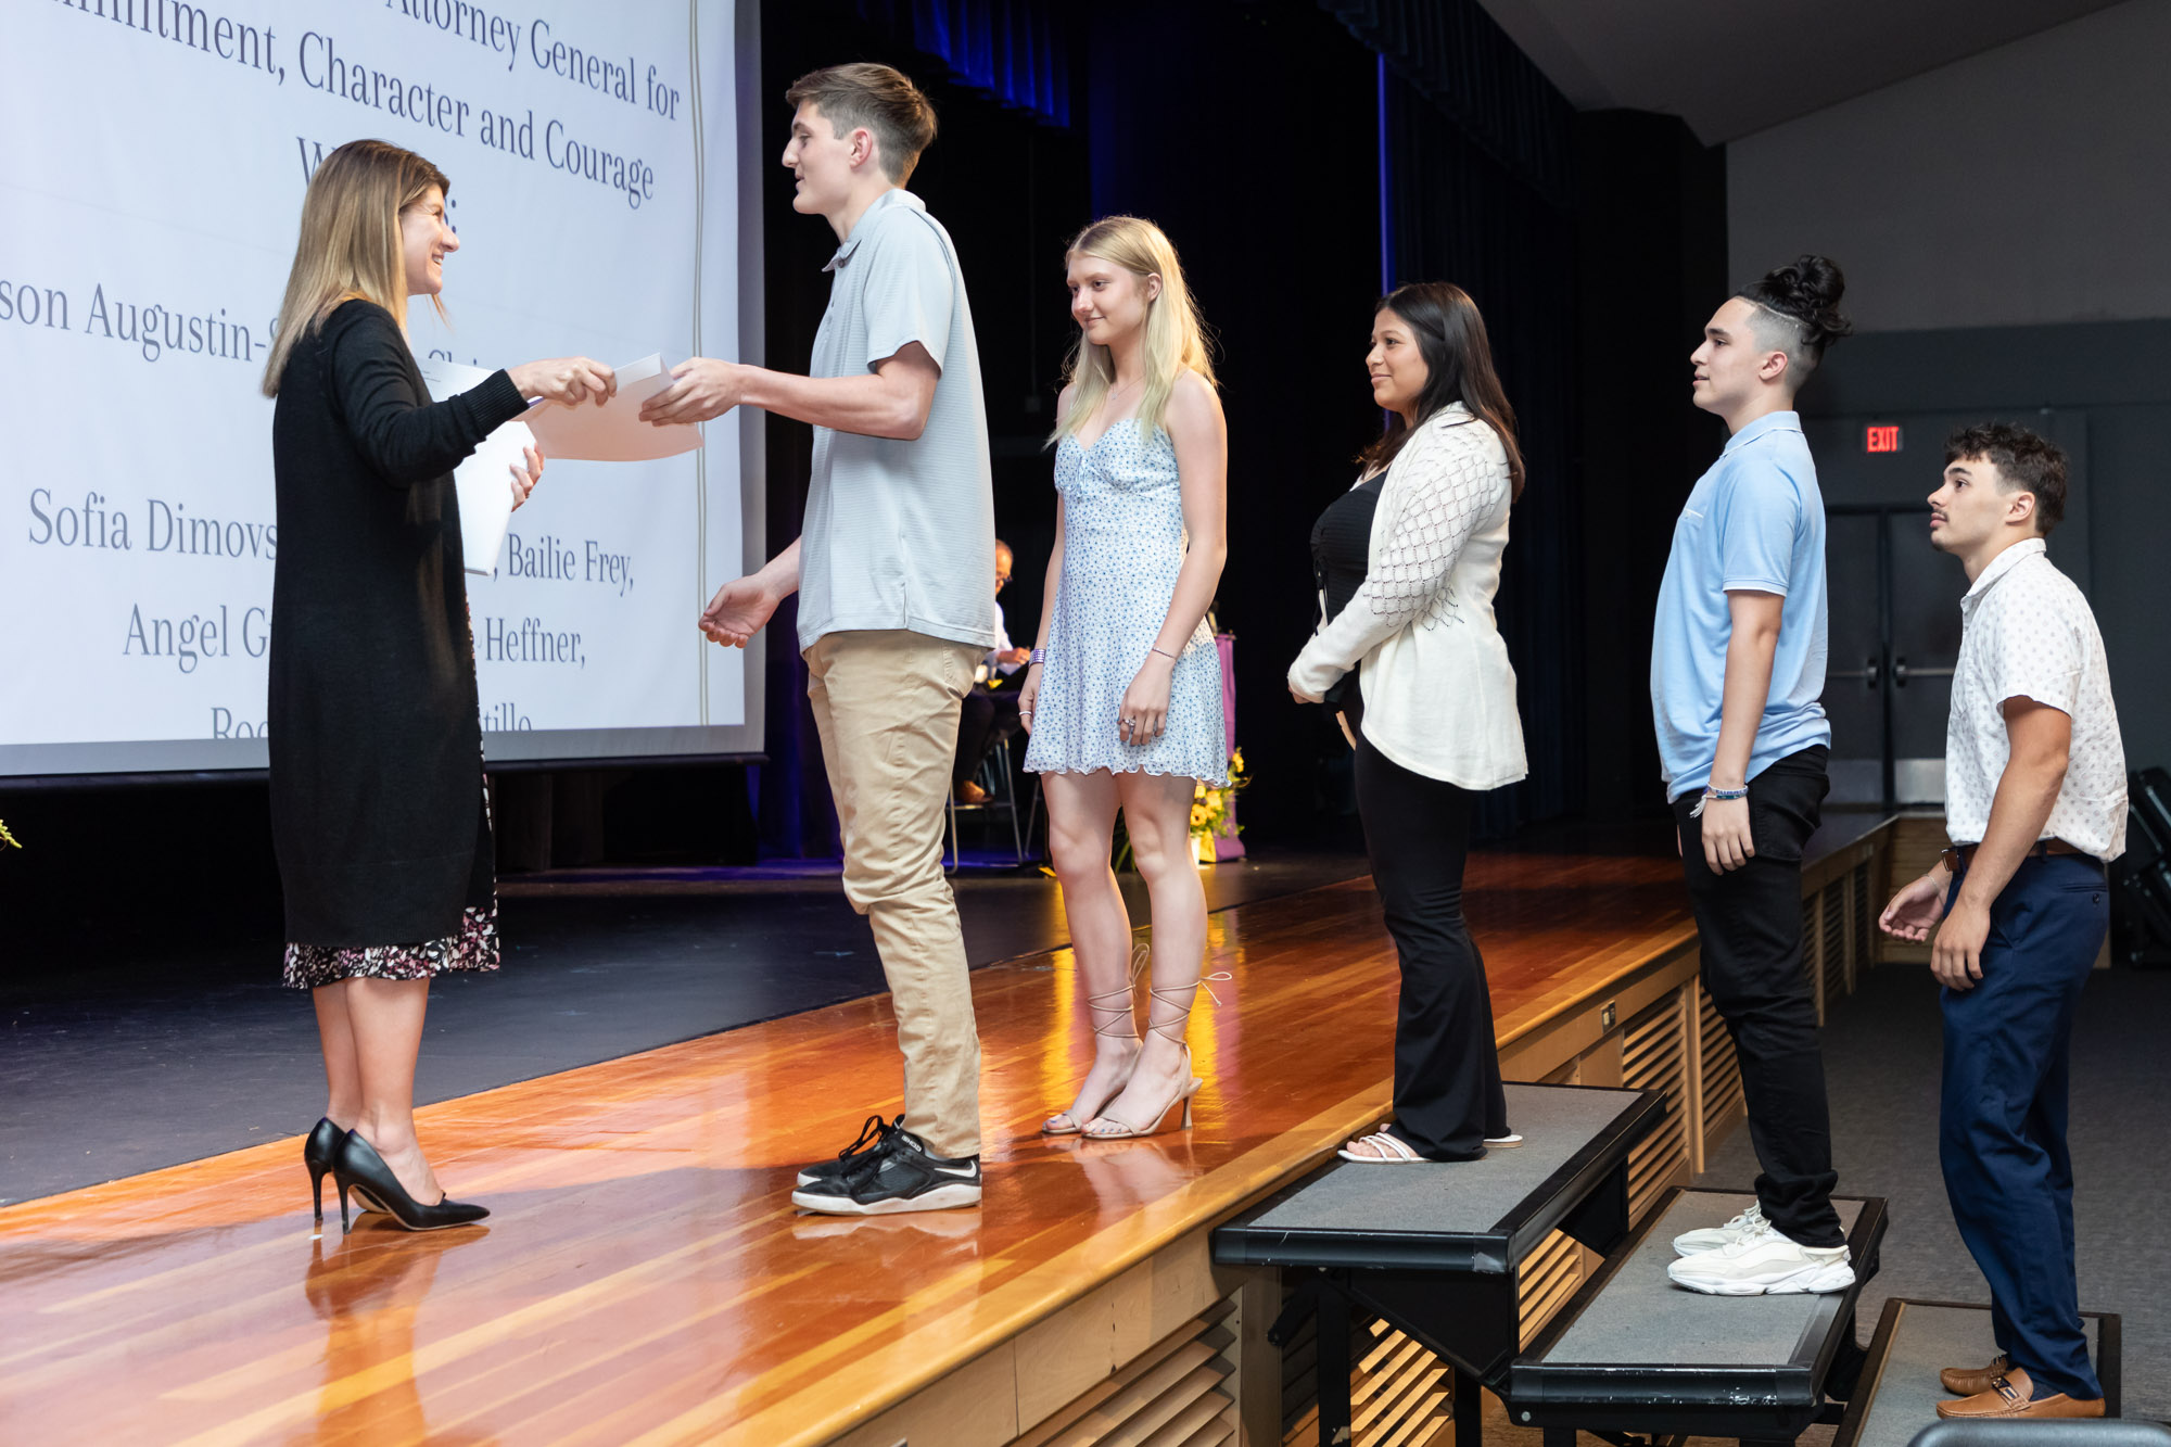
{"type": "MultiPolygon", "coordinates": [[[[1070,115],[1068,22],[1053,7],[986,0],[769,0],[762,4],[762,243],[766,250],[766,356],[805,372],[829,302],[823,265],[836,237],[792,211],[784,154],[784,91],[823,65],[879,61],[912,76],[936,106],[938,135],[910,187],[957,243],[979,341],[994,454],[994,526],[1018,567],[1003,593],[1014,639],[1040,626],[1040,584],[1055,534],[1042,435],[1070,337],[1062,241],[1088,215],[1086,139],[1055,124],[1070,115]],[[927,50],[923,46],[942,46],[927,50]],[[1062,67],[1057,78],[1053,70],[1062,67]]],[[[766,415],[769,554],[805,517],[814,432],[766,415]]],[[[834,858],[836,810],[821,741],[805,702],[797,600],[769,626],[764,752],[751,780],[764,858],[834,858]]]]}

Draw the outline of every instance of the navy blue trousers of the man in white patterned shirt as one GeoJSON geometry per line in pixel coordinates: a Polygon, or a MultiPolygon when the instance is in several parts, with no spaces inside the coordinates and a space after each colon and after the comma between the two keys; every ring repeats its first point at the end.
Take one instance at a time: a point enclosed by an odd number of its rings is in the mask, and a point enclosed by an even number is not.
{"type": "MultiPolygon", "coordinates": [[[[1958,893],[1956,878],[1947,913],[1958,893]]],[[[1991,1284],[1997,1349],[2028,1371],[2036,1397],[2104,1395],[2089,1364],[2073,1280],[2065,1095],[2073,1006],[2108,928],[2099,863],[2030,856],[1991,906],[1982,980],[1969,991],[1943,991],[1945,1195],[1967,1254],[1991,1284]]]]}

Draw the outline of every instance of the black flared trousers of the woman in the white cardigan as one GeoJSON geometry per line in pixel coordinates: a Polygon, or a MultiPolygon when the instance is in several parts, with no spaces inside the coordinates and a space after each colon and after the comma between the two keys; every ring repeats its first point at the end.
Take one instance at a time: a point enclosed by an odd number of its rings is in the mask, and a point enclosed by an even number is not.
{"type": "Polygon", "coordinates": [[[1472,1160],[1485,1154],[1487,1136],[1509,1134],[1485,960],[1463,923],[1474,800],[1468,789],[1411,773],[1357,732],[1357,813],[1402,960],[1394,1134],[1433,1160],[1472,1160]]]}

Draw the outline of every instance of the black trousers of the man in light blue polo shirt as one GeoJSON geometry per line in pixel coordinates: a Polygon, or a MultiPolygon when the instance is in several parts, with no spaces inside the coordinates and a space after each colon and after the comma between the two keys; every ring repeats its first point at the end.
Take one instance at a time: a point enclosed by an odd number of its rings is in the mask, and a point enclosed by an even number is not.
{"type": "Polygon", "coordinates": [[[1811,1247],[1845,1245],[1832,1210],[1832,1112],[1824,1097],[1817,1004],[1802,971],[1802,847],[1830,789],[1824,745],[1750,780],[1756,854],[1732,873],[1704,863],[1702,789],[1674,800],[1680,867],[1704,954],[1704,989],[1741,1058],[1741,1095],[1756,1147],[1756,1199],[1780,1232],[1811,1247]]]}

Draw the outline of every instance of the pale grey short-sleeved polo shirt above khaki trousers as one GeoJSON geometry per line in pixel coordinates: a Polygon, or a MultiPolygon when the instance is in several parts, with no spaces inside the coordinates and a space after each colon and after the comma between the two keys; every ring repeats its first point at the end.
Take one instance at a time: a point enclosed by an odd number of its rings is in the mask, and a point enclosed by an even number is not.
{"type": "Polygon", "coordinates": [[[814,428],[799,647],[860,628],[994,647],[988,408],[957,250],[918,196],[888,191],[825,269],[810,376],[860,376],[918,341],[942,378],[914,441],[814,428]]]}

